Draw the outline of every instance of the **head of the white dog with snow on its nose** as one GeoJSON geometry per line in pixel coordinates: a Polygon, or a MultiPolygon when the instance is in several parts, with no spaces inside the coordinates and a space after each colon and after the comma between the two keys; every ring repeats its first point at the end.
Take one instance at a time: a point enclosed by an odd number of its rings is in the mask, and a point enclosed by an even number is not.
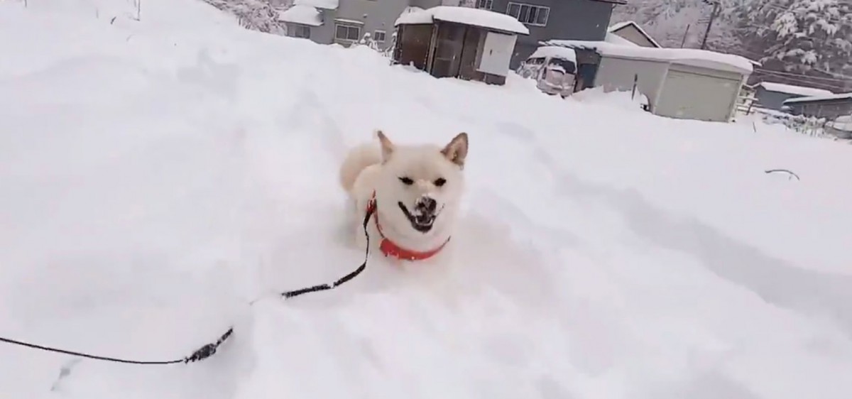
{"type": "Polygon", "coordinates": [[[382,176],[377,200],[383,217],[400,233],[429,234],[455,217],[464,188],[468,135],[459,133],[446,146],[397,146],[383,132],[382,176]]]}

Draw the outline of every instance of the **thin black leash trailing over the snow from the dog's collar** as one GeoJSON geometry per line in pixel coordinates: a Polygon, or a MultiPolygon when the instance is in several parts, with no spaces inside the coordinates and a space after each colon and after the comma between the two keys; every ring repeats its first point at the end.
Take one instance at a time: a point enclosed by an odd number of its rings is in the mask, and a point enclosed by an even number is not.
{"type": "MultiPolygon", "coordinates": [[[[349,272],[348,275],[344,275],[340,279],[337,279],[337,280],[331,282],[331,284],[320,284],[318,286],[309,286],[308,288],[300,288],[300,289],[294,290],[294,291],[285,291],[285,292],[281,292],[281,296],[284,297],[285,299],[288,299],[288,298],[298,297],[299,295],[304,295],[304,294],[310,293],[310,292],[320,292],[320,291],[331,290],[331,289],[337,288],[337,286],[343,285],[343,283],[347,282],[348,280],[354,279],[355,276],[360,275],[361,272],[364,271],[364,269],[366,269],[367,259],[370,257],[370,234],[367,232],[367,225],[370,223],[370,217],[372,217],[372,215],[375,211],[376,211],[375,205],[368,207],[366,215],[364,217],[364,236],[366,237],[366,241],[367,241],[366,252],[364,254],[364,263],[361,263],[361,265],[357,269],[354,269],[353,271],[349,272]]],[[[95,360],[101,360],[101,361],[114,361],[114,362],[117,362],[117,363],[154,365],[154,364],[190,363],[190,362],[193,362],[193,361],[204,360],[204,359],[206,359],[210,356],[215,355],[216,350],[219,349],[219,346],[221,346],[223,343],[225,343],[225,341],[227,341],[227,338],[231,338],[232,335],[233,335],[233,327],[229,327],[227,329],[227,331],[224,334],[222,334],[222,336],[219,337],[219,339],[216,340],[216,342],[202,346],[201,348],[199,348],[199,350],[194,351],[193,354],[190,355],[190,356],[184,357],[182,359],[175,359],[175,360],[170,360],[170,361],[135,361],[135,360],[119,359],[117,357],[95,356],[95,355],[89,355],[87,353],[75,352],[75,351],[72,351],[72,350],[61,350],[59,348],[51,348],[49,346],[30,344],[30,343],[26,343],[26,342],[23,342],[23,341],[17,341],[17,340],[14,340],[14,339],[3,338],[3,337],[0,337],[0,342],[5,342],[7,344],[15,344],[15,345],[20,345],[20,346],[25,346],[27,348],[32,348],[32,349],[37,349],[37,350],[46,350],[46,351],[49,351],[49,352],[62,353],[62,354],[66,354],[66,355],[86,357],[86,358],[89,358],[89,359],[95,359],[95,360]]]]}

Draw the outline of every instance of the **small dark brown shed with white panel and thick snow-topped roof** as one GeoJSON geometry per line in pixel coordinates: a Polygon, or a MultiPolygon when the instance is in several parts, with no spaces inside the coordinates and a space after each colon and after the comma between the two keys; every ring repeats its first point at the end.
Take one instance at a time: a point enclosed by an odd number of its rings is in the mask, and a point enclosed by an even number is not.
{"type": "Polygon", "coordinates": [[[489,84],[505,84],[517,37],[529,33],[509,15],[450,6],[411,9],[394,25],[394,62],[489,84]]]}

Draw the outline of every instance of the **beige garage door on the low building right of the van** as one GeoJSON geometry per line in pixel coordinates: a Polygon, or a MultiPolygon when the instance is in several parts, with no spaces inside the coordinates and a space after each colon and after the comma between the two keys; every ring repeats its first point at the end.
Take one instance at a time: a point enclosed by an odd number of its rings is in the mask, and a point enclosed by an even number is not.
{"type": "Polygon", "coordinates": [[[740,80],[670,69],[654,113],[727,122],[739,92],[740,80]]]}

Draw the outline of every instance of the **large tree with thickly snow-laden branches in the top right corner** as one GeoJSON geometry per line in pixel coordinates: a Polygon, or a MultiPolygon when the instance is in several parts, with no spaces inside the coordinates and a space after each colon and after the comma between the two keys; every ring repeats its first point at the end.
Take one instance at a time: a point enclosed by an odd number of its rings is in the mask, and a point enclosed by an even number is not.
{"type": "Polygon", "coordinates": [[[776,0],[744,9],[746,49],[773,69],[852,75],[852,4],[776,0]]]}

